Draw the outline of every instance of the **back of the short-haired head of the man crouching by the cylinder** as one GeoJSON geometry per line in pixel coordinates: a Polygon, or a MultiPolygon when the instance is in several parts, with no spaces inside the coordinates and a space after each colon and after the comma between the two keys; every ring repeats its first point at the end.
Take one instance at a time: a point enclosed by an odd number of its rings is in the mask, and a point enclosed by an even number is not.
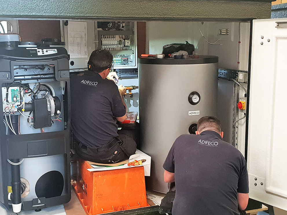
{"type": "Polygon", "coordinates": [[[206,130],[221,132],[221,122],[215,116],[204,116],[197,121],[197,131],[202,132],[206,130]]]}

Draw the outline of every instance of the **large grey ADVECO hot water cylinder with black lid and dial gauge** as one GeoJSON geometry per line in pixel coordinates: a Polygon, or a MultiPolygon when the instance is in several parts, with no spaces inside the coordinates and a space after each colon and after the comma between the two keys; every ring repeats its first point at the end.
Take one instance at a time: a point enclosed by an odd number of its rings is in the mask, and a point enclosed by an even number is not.
{"type": "Polygon", "coordinates": [[[165,158],[181,134],[196,131],[199,118],[216,115],[218,57],[139,58],[140,150],[152,157],[147,187],[168,192],[165,158]]]}

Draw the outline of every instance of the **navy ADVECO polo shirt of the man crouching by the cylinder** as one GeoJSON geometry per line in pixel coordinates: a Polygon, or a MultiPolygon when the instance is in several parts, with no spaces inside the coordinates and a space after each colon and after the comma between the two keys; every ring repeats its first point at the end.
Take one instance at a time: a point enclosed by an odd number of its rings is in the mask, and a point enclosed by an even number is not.
{"type": "Polygon", "coordinates": [[[173,215],[237,215],[237,193],[249,193],[243,155],[215,131],[179,136],[163,168],[175,177],[173,215]]]}

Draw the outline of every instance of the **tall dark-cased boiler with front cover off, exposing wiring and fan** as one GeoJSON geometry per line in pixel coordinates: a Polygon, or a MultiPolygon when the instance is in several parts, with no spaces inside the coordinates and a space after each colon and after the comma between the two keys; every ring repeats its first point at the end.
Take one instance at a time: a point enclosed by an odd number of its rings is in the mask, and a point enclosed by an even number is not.
{"type": "Polygon", "coordinates": [[[0,43],[0,202],[15,213],[67,203],[69,55],[41,43],[0,43]]]}

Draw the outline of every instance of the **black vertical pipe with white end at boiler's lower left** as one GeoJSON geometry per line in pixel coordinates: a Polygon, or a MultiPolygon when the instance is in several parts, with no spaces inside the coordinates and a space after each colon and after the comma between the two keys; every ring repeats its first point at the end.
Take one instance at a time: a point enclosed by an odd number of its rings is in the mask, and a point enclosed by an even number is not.
{"type": "MultiPolygon", "coordinates": [[[[19,163],[19,159],[10,159],[13,163],[19,163]]],[[[11,165],[12,176],[12,208],[14,213],[21,211],[21,179],[20,179],[20,165],[11,165]]]]}

